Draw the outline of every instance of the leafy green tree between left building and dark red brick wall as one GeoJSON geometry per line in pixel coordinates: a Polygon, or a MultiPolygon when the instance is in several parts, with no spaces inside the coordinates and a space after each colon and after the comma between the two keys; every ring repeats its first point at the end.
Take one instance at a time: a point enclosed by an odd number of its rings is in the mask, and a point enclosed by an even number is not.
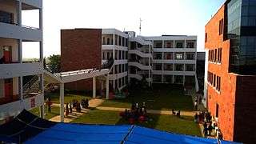
{"type": "Polygon", "coordinates": [[[49,59],[49,70],[51,73],[59,73],[61,70],[61,55],[50,55],[49,59]]]}

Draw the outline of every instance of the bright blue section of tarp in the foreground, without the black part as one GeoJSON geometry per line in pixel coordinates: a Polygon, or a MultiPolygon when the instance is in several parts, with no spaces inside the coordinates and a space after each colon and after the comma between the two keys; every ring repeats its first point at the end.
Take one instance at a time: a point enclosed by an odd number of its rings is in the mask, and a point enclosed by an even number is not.
{"type": "MultiPolygon", "coordinates": [[[[59,123],[25,143],[218,143],[217,139],[171,134],[141,126],[59,123]]],[[[233,143],[222,141],[222,143],[233,143]]]]}

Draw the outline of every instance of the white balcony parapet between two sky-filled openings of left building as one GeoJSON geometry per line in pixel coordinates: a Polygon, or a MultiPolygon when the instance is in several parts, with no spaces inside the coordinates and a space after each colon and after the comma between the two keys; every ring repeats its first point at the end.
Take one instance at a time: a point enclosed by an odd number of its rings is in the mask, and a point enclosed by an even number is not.
{"type": "Polygon", "coordinates": [[[26,26],[18,26],[4,22],[0,22],[0,27],[1,38],[22,38],[24,41],[34,42],[42,41],[42,30],[26,26]]]}

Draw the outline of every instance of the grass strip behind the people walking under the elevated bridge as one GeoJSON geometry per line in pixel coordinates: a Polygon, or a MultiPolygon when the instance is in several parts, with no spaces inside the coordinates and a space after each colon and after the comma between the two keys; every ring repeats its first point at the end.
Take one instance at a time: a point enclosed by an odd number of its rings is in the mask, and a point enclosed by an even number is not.
{"type": "MultiPolygon", "coordinates": [[[[51,102],[59,103],[59,93],[50,93],[45,95],[45,99],[49,98],[51,99],[51,102]]],[[[64,103],[71,102],[73,99],[78,100],[78,102],[81,102],[82,98],[88,98],[90,100],[90,96],[87,96],[86,94],[65,94],[64,96],[64,103]]]]}

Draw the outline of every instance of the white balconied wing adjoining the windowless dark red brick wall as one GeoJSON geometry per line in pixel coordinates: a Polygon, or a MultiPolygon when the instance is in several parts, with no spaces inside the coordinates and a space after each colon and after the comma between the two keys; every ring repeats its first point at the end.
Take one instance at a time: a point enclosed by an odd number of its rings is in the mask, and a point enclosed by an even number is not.
{"type": "Polygon", "coordinates": [[[102,64],[114,58],[110,87],[122,90],[128,81],[128,34],[115,29],[102,29],[102,64]]]}

